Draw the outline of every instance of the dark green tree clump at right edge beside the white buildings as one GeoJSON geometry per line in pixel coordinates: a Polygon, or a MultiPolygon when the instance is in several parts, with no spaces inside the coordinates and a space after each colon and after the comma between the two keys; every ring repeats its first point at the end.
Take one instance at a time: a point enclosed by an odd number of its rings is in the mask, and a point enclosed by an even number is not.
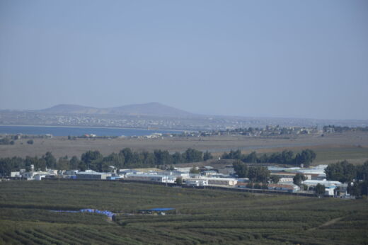
{"type": "Polygon", "coordinates": [[[348,161],[330,164],[325,169],[329,181],[347,183],[347,191],[355,196],[368,195],[368,161],[353,165],[348,161]]]}

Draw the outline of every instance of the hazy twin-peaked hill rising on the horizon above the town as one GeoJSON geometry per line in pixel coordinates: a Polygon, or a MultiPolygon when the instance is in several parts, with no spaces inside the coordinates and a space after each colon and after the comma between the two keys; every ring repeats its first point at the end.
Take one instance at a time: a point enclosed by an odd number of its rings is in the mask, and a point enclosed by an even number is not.
{"type": "Polygon", "coordinates": [[[185,110],[165,106],[161,103],[144,103],[114,108],[94,108],[78,105],[57,105],[43,110],[42,113],[62,113],[62,114],[113,114],[113,115],[153,115],[164,117],[189,117],[194,114],[185,110]]]}

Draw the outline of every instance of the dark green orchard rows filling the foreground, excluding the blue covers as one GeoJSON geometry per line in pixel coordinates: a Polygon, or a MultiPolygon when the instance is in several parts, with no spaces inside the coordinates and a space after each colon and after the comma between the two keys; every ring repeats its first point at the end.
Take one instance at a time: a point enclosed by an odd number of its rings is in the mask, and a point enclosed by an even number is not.
{"type": "Polygon", "coordinates": [[[0,183],[0,244],[367,244],[367,200],[105,181],[0,183]],[[174,207],[165,216],[137,210],[174,207]],[[96,208],[103,215],[50,210],[96,208]]]}

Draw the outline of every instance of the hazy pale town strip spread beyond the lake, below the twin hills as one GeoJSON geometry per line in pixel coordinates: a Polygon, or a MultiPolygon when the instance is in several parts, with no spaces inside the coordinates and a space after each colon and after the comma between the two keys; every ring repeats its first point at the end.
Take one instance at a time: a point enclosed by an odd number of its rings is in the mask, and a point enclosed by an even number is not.
{"type": "MultiPolygon", "coordinates": [[[[229,116],[176,116],[159,117],[149,115],[86,115],[65,113],[42,113],[36,111],[0,111],[2,125],[62,125],[82,127],[129,127],[160,128],[166,130],[235,130],[248,127],[315,127],[316,125],[362,125],[362,122],[335,120],[307,120],[304,118],[242,118],[229,116]],[[276,126],[277,127],[277,126],[276,126]]],[[[265,129],[266,130],[266,129],[265,129]]],[[[305,133],[304,130],[292,130],[305,133]]],[[[277,133],[277,129],[275,130],[277,133]]],[[[256,132],[255,132],[256,134],[256,132]]]]}

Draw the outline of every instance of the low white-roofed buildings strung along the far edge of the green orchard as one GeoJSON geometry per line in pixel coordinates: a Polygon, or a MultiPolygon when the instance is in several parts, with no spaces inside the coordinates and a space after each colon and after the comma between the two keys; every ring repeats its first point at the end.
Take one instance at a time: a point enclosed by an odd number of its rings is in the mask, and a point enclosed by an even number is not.
{"type": "Polygon", "coordinates": [[[52,170],[35,171],[33,165],[30,171],[21,169],[11,172],[12,178],[23,178],[27,180],[41,181],[43,178],[69,178],[77,180],[127,180],[144,181],[152,183],[180,184],[192,187],[222,186],[227,188],[262,188],[268,190],[282,190],[290,193],[314,193],[318,184],[325,186],[325,195],[335,197],[347,197],[347,184],[338,181],[327,181],[324,169],[326,165],[319,165],[311,168],[282,168],[268,166],[271,176],[279,178],[278,183],[250,183],[248,178],[237,178],[232,166],[224,169],[214,169],[212,166],[203,166],[197,169],[199,173],[191,173],[192,168],[174,168],[173,170],[161,169],[115,169],[110,166],[109,172],[97,172],[93,170],[52,170]],[[294,184],[293,178],[297,173],[302,173],[306,180],[301,185],[294,184]],[[306,188],[301,188],[306,186],[306,188]]]}

